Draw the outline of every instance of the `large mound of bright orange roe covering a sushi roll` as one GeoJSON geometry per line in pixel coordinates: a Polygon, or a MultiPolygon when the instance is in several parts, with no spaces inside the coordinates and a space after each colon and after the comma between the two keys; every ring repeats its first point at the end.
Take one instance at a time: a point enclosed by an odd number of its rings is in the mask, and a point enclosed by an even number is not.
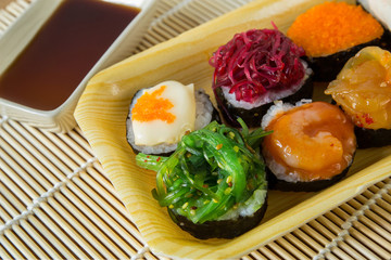
{"type": "Polygon", "coordinates": [[[288,37],[307,56],[324,56],[380,38],[383,28],[361,5],[326,2],[301,14],[288,37]]]}

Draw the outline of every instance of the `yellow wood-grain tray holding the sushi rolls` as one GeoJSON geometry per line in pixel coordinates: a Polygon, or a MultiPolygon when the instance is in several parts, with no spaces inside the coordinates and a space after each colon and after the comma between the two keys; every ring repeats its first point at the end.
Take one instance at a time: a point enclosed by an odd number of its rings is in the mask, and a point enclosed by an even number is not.
{"type": "MultiPolygon", "coordinates": [[[[213,96],[213,52],[238,31],[272,28],[286,32],[295,17],[323,1],[253,1],[243,8],[150,48],[96,75],[76,109],[76,119],[121,199],[153,252],[173,258],[236,258],[308,222],[383,180],[391,171],[389,146],[358,150],[348,177],[320,192],[268,195],[262,222],[232,239],[200,240],[179,229],[151,191],[155,172],[136,165],[126,139],[126,118],[135,93],[165,80],[193,83],[213,96]],[[273,22],[273,23],[272,23],[273,22]],[[102,109],[104,107],[104,109],[102,109]]],[[[325,84],[314,87],[315,101],[329,101],[325,84]]],[[[216,101],[213,100],[214,105],[216,101]]]]}

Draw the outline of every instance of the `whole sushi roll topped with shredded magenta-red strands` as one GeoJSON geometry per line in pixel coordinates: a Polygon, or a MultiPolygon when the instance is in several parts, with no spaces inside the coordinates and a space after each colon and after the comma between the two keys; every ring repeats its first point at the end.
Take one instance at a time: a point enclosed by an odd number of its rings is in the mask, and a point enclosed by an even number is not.
{"type": "Polygon", "coordinates": [[[251,29],[237,34],[213,53],[213,91],[227,123],[251,128],[275,100],[311,99],[312,69],[301,60],[302,48],[277,29],[251,29]]]}

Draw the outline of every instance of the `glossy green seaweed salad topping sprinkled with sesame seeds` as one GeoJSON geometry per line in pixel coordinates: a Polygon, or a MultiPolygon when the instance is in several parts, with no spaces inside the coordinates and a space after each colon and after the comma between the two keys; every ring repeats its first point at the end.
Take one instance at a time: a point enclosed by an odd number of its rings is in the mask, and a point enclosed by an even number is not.
{"type": "Polygon", "coordinates": [[[252,216],[266,204],[262,129],[241,131],[212,121],[190,132],[169,157],[138,154],[137,165],[156,171],[153,197],[192,223],[252,216]]]}

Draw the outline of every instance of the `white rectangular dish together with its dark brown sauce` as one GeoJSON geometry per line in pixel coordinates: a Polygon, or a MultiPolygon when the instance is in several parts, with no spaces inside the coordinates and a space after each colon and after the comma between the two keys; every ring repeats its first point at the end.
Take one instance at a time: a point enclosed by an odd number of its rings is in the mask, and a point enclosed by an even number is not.
{"type": "Polygon", "coordinates": [[[52,132],[76,126],[88,80],[131,55],[156,0],[37,0],[0,37],[0,115],[52,132]]]}

